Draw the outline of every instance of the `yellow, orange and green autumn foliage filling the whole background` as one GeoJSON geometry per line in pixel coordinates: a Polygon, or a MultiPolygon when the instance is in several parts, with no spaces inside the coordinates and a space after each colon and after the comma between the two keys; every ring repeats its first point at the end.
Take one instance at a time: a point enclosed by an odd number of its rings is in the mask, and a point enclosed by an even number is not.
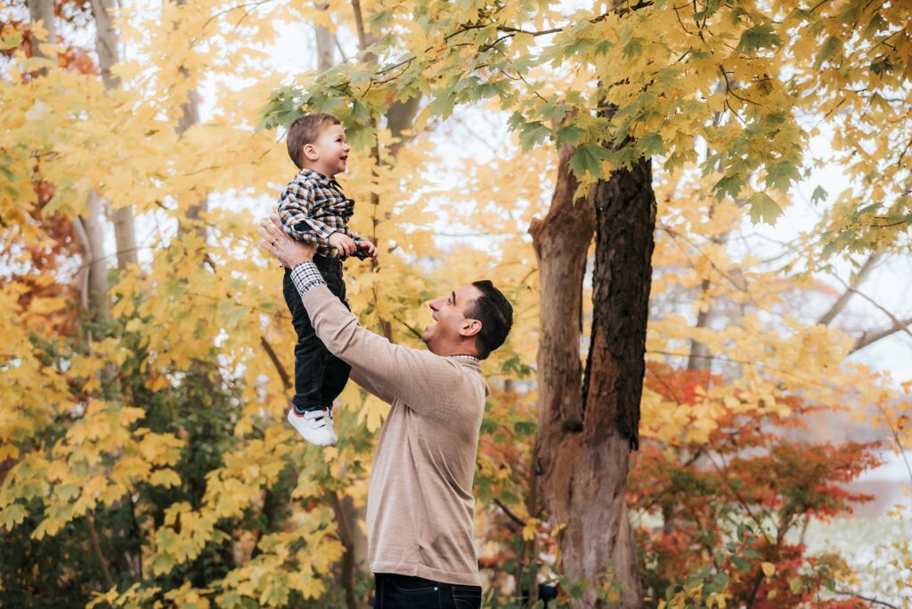
{"type": "MultiPolygon", "coordinates": [[[[537,459],[528,229],[564,145],[577,204],[653,162],[624,489],[644,603],[837,609],[877,593],[806,536],[869,501],[848,484],[910,441],[909,384],[856,355],[912,321],[862,294],[908,260],[907,3],[127,3],[112,8],[114,79],[93,42],[100,2],[7,4],[0,604],[367,604],[363,508],[389,407],[349,384],[331,449],[285,425],[295,337],[256,247],[294,173],[283,126],[307,110],[336,113],[355,147],[353,229],[380,247],[378,265],[347,263],[363,325],[420,346],[427,301],[480,277],[513,302],[513,335],[484,364],[485,606],[541,607],[539,584],[548,606],[624,592],[618,565],[566,576],[537,459]],[[42,6],[54,40],[30,16],[42,6]],[[328,28],[346,59],[285,73],[271,45],[300,34],[289,25],[328,28]],[[815,184],[803,205],[796,185],[827,165],[850,186],[815,184]],[[111,247],[128,208],[133,262],[111,247]],[[861,325],[841,323],[852,298],[869,305],[861,325]],[[842,433],[854,425],[878,441],[842,433]]],[[[587,339],[589,275],[580,289],[587,339]]],[[[891,552],[890,598],[907,607],[909,543],[891,552]]]]}

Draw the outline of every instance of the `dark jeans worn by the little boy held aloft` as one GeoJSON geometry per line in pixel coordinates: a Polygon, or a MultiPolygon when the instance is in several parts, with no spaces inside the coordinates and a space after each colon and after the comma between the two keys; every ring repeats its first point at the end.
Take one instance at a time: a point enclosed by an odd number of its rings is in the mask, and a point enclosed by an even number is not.
{"type": "MultiPolygon", "coordinates": [[[[341,261],[316,254],[314,263],[326,280],[329,291],[348,306],[341,261]]],[[[285,269],[282,292],[285,294],[285,304],[291,311],[292,324],[295,325],[297,334],[295,397],[292,398],[292,403],[298,411],[329,408],[345,388],[351,367],[329,353],[323,342],[316,337],[314,326],[311,325],[304,303],[301,302],[301,294],[298,294],[295,283],[291,280],[289,269],[285,269]]]]}

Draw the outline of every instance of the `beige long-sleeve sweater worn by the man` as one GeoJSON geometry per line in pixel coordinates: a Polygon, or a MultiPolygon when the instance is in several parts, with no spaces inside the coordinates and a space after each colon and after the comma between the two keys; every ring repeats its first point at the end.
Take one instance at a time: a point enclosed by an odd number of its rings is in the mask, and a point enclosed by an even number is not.
{"type": "Polygon", "coordinates": [[[480,585],[472,480],[488,393],[481,365],[389,343],[325,285],[303,299],[316,335],[351,366],[351,378],[392,405],[370,473],[370,570],[480,585]]]}

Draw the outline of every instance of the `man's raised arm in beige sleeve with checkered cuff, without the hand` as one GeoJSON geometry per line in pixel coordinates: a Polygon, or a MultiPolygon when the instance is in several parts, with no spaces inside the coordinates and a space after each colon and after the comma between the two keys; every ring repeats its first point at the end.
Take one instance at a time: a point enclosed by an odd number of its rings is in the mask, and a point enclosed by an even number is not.
{"type": "Polygon", "coordinates": [[[315,269],[312,263],[298,264],[292,279],[316,335],[330,353],[351,366],[352,380],[387,402],[399,397],[418,414],[444,418],[450,414],[446,397],[462,383],[460,366],[430,351],[393,345],[359,325],[315,269]]]}

